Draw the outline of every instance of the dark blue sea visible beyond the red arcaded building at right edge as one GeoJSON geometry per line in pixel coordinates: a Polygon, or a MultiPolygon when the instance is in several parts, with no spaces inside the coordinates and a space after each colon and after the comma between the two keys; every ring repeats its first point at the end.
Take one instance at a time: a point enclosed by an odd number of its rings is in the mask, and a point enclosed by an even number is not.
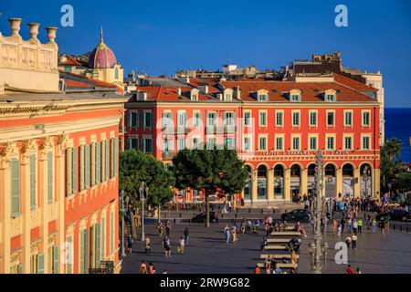
{"type": "Polygon", "coordinates": [[[411,162],[411,109],[385,109],[385,139],[396,138],[403,142],[401,158],[411,162]]]}

